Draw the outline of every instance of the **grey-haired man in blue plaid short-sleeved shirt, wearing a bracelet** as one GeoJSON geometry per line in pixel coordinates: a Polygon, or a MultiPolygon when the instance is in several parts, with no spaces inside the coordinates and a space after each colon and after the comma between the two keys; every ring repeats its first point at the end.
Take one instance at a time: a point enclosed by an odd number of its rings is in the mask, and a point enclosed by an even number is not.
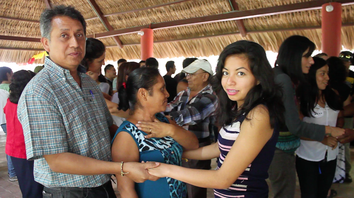
{"type": "MultiPolygon", "coordinates": [[[[43,197],[114,198],[110,176],[119,176],[122,164],[111,162],[110,134],[118,127],[97,83],[80,65],[86,48],[85,19],[73,7],[56,6],[42,12],[40,29],[50,58],[18,103],[34,179],[45,186],[43,197]]],[[[127,162],[122,170],[143,182],[158,179],[146,170],[157,165],[127,162]]]]}

